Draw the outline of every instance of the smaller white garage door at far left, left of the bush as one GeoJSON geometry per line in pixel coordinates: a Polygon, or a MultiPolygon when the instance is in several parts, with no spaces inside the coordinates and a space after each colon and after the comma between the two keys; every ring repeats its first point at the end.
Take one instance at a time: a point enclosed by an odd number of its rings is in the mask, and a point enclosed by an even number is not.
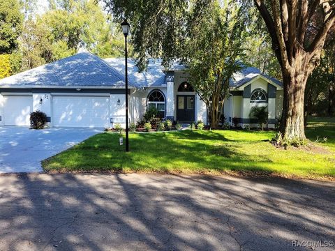
{"type": "Polygon", "coordinates": [[[6,126],[29,126],[32,96],[4,96],[3,122],[6,126]]]}

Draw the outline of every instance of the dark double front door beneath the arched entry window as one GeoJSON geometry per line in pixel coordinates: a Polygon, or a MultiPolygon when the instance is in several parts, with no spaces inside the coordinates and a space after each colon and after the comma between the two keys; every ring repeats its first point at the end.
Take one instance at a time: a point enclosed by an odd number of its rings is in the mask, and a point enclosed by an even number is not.
{"type": "Polygon", "coordinates": [[[194,95],[177,95],[177,121],[194,122],[194,95]]]}

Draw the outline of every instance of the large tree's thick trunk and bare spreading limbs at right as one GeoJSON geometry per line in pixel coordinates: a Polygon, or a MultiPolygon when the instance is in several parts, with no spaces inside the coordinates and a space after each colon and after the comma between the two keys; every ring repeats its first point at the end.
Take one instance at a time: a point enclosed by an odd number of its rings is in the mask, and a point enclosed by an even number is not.
{"type": "Polygon", "coordinates": [[[280,130],[288,139],[304,139],[306,81],[319,64],[327,33],[335,22],[335,3],[327,0],[254,0],[254,3],[265,21],[283,74],[280,130]],[[311,32],[315,19],[318,26],[311,32]]]}

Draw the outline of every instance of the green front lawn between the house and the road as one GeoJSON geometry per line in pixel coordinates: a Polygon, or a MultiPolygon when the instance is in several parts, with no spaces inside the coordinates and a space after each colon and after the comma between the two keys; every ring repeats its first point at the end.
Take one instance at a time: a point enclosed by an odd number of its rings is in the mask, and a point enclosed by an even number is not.
{"type": "Polygon", "coordinates": [[[335,177],[335,119],[313,119],[309,139],[327,137],[329,153],[276,149],[274,132],[213,130],[130,134],[131,152],[119,134],[95,135],[43,162],[46,171],[247,172],[301,178],[335,177]]]}

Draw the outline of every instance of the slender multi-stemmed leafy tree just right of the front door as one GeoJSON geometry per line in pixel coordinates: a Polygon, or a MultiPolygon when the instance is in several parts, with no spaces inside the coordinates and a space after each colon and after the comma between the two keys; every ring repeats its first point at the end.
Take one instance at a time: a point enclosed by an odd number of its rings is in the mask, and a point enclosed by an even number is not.
{"type": "Polygon", "coordinates": [[[184,55],[191,84],[209,111],[211,128],[218,128],[229,80],[241,69],[237,57],[245,38],[244,10],[226,1],[195,4],[191,10],[184,55]]]}

